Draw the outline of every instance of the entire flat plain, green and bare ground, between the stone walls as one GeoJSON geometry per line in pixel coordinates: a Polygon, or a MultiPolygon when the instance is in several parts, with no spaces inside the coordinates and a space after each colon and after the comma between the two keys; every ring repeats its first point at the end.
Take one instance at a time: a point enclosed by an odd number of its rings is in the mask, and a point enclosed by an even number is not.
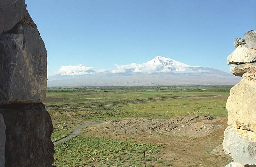
{"type": "Polygon", "coordinates": [[[116,166],[117,158],[119,166],[144,166],[145,150],[148,167],[224,166],[230,88],[47,88],[52,141],[64,140],[55,143],[54,164],[116,166]],[[72,132],[78,135],[69,138],[72,132]]]}

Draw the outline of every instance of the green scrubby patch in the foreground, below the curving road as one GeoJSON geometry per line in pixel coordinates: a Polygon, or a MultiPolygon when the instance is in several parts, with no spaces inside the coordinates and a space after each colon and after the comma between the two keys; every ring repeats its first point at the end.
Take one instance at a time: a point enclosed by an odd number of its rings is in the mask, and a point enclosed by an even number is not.
{"type": "Polygon", "coordinates": [[[143,150],[147,151],[147,156],[150,159],[153,159],[152,153],[159,151],[159,147],[154,144],[129,142],[128,146],[123,140],[89,137],[80,134],[55,146],[54,165],[98,166],[98,162],[114,164],[116,158],[127,163],[140,164],[144,160],[143,150]]]}

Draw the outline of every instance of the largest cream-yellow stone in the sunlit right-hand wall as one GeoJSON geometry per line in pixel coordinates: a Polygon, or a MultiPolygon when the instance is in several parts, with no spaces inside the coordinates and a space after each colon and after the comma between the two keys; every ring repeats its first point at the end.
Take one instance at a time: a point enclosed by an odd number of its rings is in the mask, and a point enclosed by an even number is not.
{"type": "Polygon", "coordinates": [[[226,103],[228,125],[256,132],[255,79],[254,72],[244,73],[243,79],[230,89],[230,96],[226,103]]]}

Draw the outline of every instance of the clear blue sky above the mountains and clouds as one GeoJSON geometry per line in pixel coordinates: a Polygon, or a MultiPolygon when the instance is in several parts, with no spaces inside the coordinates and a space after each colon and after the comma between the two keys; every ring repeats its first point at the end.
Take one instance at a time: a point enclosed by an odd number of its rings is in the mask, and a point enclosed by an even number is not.
{"type": "Polygon", "coordinates": [[[156,56],[229,72],[236,37],[256,29],[255,0],[25,0],[45,42],[48,75],[61,65],[110,70],[156,56]]]}

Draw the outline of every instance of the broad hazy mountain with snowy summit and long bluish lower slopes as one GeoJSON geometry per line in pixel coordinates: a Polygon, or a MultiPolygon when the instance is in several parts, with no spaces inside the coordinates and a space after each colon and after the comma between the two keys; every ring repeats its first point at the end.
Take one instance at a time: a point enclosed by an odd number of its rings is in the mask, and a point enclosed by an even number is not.
{"type": "Polygon", "coordinates": [[[57,74],[48,77],[47,86],[234,85],[241,80],[227,72],[186,65],[165,57],[155,57],[142,65],[129,65],[123,71],[90,71],[72,76],[57,74]],[[148,68],[150,72],[145,72],[148,68]]]}

